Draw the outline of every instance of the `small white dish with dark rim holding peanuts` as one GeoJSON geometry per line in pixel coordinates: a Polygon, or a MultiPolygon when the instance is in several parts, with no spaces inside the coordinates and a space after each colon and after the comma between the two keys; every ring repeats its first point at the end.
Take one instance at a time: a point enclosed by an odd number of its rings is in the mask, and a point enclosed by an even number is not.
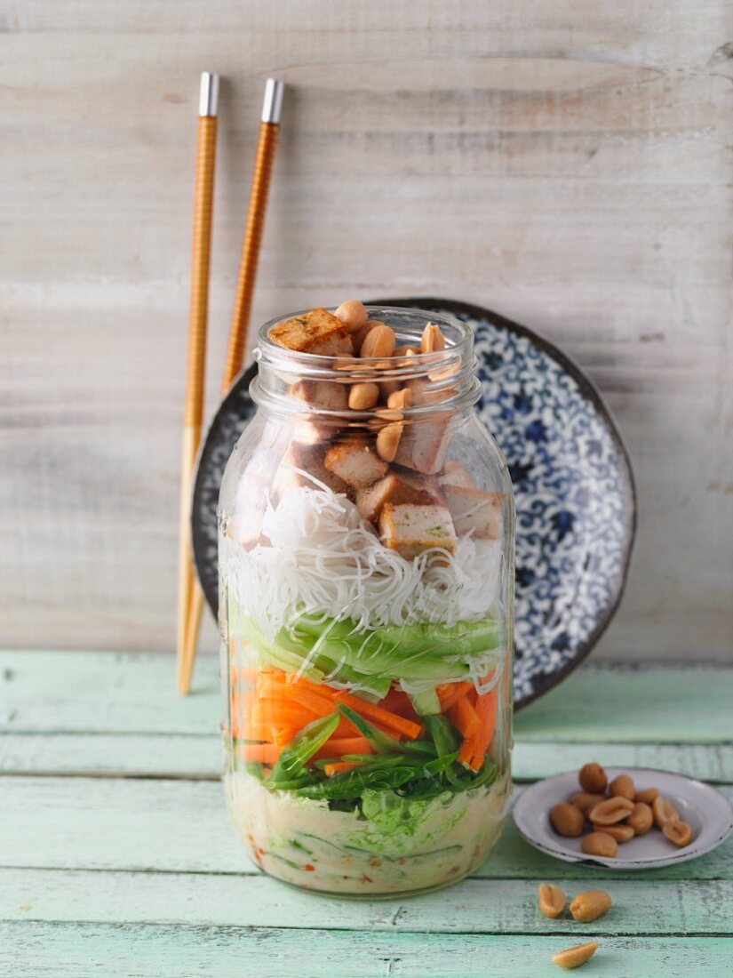
{"type": "Polygon", "coordinates": [[[568,863],[628,871],[654,869],[697,859],[711,852],[733,829],[730,803],[710,784],[654,768],[606,768],[605,771],[609,781],[618,775],[628,775],[637,791],[659,788],[660,794],[677,809],[680,819],[692,828],[692,842],[677,849],[655,827],[645,835],[621,844],[615,859],[586,856],[581,851],[582,836],[574,839],[559,835],[549,821],[549,810],[553,805],[568,801],[571,795],[582,790],[577,771],[544,778],[522,792],[512,813],[519,834],[536,849],[568,863]]]}

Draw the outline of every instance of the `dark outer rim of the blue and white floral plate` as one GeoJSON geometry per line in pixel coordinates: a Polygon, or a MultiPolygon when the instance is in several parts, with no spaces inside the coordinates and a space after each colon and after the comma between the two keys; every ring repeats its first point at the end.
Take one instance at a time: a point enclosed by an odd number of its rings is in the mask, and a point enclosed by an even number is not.
{"type": "MultiPolygon", "coordinates": [[[[633,542],[636,536],[637,523],[636,486],[624,441],[618,427],[616,426],[616,422],[614,422],[611,411],[591,380],[582,373],[581,368],[574,363],[570,357],[568,357],[548,339],[545,339],[544,336],[539,335],[539,333],[536,333],[534,330],[521,326],[519,323],[514,323],[512,320],[506,319],[504,316],[500,316],[498,313],[493,312],[490,309],[472,305],[469,302],[461,302],[456,299],[440,299],[433,296],[378,298],[368,299],[366,304],[427,309],[431,312],[437,312],[440,309],[444,309],[448,312],[452,312],[453,314],[457,314],[458,316],[465,316],[470,319],[483,319],[491,323],[493,326],[506,330],[509,333],[526,336],[548,357],[550,357],[550,359],[560,364],[563,370],[576,381],[582,395],[593,404],[593,407],[595,408],[599,417],[603,420],[603,422],[605,422],[611,436],[611,440],[619,453],[619,458],[624,469],[623,481],[625,486],[625,495],[628,500],[628,507],[630,511],[630,520],[626,526],[625,539],[622,541],[625,554],[620,573],[617,575],[617,580],[615,582],[613,597],[609,600],[608,604],[604,608],[602,615],[599,617],[595,627],[593,628],[593,631],[590,633],[588,638],[584,640],[584,642],[578,645],[570,661],[556,672],[539,674],[536,682],[533,685],[532,693],[524,696],[522,699],[515,700],[514,709],[515,711],[519,710],[522,707],[528,706],[530,703],[534,702],[534,700],[538,699],[544,692],[547,692],[549,689],[554,689],[554,687],[562,682],[562,680],[566,679],[573,672],[573,670],[581,664],[582,660],[586,658],[590,650],[594,645],[596,645],[600,637],[608,628],[611,619],[616,614],[616,611],[621,604],[621,600],[624,597],[625,583],[628,575],[628,566],[631,560],[631,552],[633,550],[633,542]]],[[[194,515],[195,513],[201,512],[205,509],[205,496],[207,495],[207,492],[204,485],[204,479],[202,478],[202,472],[204,470],[204,462],[210,457],[216,446],[218,438],[218,420],[222,415],[226,416],[233,413],[235,403],[241,399],[242,388],[247,389],[249,387],[249,384],[256,373],[257,365],[250,364],[235,379],[226,396],[221,401],[207,428],[206,436],[201,443],[196,462],[194,491],[192,498],[192,545],[194,551],[194,564],[196,573],[198,575],[198,580],[200,581],[201,588],[203,590],[204,598],[214,614],[214,617],[216,617],[219,603],[218,582],[216,579],[216,574],[212,573],[210,564],[206,559],[208,545],[206,534],[201,530],[198,521],[194,518],[194,515]]],[[[216,524],[215,514],[214,524],[216,524]]]]}

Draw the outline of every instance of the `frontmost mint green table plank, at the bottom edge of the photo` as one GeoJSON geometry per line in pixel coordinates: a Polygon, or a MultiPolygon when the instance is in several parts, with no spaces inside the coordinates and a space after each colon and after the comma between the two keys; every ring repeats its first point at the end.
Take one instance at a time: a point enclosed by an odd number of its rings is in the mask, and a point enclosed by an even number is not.
{"type": "MultiPolygon", "coordinates": [[[[238,927],[25,923],[0,924],[0,963],[31,960],[34,975],[59,978],[528,978],[559,972],[550,956],[567,937],[476,934],[308,932],[238,927]]],[[[724,937],[609,937],[599,942],[592,974],[606,978],[668,975],[729,978],[724,937]],[[705,962],[701,970],[701,962],[705,962]]],[[[588,969],[585,969],[588,971],[588,969]]]]}

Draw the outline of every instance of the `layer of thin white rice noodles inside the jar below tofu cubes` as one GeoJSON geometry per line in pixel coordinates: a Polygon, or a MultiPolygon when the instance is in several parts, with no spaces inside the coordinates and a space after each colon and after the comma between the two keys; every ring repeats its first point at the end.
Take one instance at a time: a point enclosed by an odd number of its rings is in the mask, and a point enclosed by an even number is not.
{"type": "MultiPolygon", "coordinates": [[[[314,480],[316,481],[316,480],[314,480]]],[[[358,628],[478,620],[498,610],[496,541],[458,540],[406,560],[384,547],[346,496],[300,486],[267,503],[260,541],[224,552],[239,606],[273,638],[293,614],[353,618],[358,628]]],[[[485,675],[485,674],[484,674],[485,675]]]]}

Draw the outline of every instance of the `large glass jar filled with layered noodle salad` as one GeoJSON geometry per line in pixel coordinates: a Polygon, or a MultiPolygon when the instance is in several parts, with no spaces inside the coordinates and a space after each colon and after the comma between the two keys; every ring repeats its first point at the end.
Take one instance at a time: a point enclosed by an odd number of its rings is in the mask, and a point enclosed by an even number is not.
{"type": "Polygon", "coordinates": [[[242,841],[281,880],[373,898],[455,882],[499,834],[514,509],[470,329],[368,316],[396,334],[389,358],[260,331],[258,411],[220,494],[219,608],[242,841]],[[428,324],[445,348],[415,353],[428,324]]]}

